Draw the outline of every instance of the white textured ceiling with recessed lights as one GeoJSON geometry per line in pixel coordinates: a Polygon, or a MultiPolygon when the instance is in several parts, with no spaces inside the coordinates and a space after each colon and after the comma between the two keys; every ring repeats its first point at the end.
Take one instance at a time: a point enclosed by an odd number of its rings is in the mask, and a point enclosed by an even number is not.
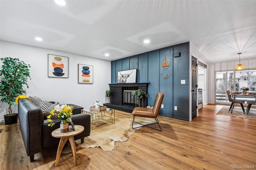
{"type": "Polygon", "coordinates": [[[183,42],[206,63],[256,59],[256,0],[0,0],[0,40],[109,61],[183,42]]]}

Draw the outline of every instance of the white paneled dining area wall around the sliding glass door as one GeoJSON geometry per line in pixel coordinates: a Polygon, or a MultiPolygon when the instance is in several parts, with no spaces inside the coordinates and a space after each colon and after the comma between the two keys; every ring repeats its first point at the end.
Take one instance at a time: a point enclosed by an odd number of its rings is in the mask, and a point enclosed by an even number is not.
{"type": "MultiPolygon", "coordinates": [[[[246,69],[256,69],[256,59],[241,61],[246,69]]],[[[208,103],[215,103],[215,71],[232,71],[238,64],[237,61],[228,63],[216,63],[207,65],[207,79],[208,79],[208,103]]]]}

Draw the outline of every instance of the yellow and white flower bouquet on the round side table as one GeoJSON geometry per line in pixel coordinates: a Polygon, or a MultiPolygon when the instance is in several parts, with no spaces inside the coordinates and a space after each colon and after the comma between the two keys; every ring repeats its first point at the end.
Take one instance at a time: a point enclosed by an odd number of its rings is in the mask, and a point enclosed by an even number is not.
{"type": "Polygon", "coordinates": [[[55,123],[52,123],[52,115],[57,115],[58,119],[60,119],[61,121],[63,121],[63,124],[66,124],[68,122],[70,122],[69,118],[71,118],[71,115],[73,114],[74,107],[73,106],[69,106],[69,105],[56,105],[54,106],[54,109],[52,109],[52,111],[50,111],[50,115],[47,116],[46,121],[50,121],[51,124],[49,124],[48,126],[54,126],[55,123]]]}

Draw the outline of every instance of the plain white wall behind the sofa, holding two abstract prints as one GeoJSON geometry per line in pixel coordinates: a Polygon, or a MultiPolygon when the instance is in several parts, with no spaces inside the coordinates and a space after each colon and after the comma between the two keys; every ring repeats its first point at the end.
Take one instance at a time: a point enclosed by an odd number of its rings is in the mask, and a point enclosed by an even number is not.
{"type": "MultiPolygon", "coordinates": [[[[108,83],[111,83],[110,61],[4,41],[0,41],[0,57],[19,58],[31,65],[27,96],[82,107],[90,107],[98,99],[105,103],[105,91],[109,89],[108,83]],[[48,77],[48,54],[68,57],[69,78],[48,77]],[[78,84],[78,64],[93,65],[93,84],[78,84]]],[[[13,113],[18,112],[17,106],[12,108],[13,113]]],[[[8,105],[0,102],[0,122],[4,122],[6,114],[8,105]]]]}

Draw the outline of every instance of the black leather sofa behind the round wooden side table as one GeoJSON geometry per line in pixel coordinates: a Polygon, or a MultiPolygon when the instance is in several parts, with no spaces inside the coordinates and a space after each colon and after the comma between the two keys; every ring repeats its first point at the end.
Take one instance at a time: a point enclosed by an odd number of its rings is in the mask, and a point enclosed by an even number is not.
{"type": "MultiPolygon", "coordinates": [[[[80,106],[74,106],[72,121],[74,125],[82,125],[84,131],[74,139],[81,139],[84,142],[84,137],[90,135],[90,115],[80,114],[80,106]]],[[[44,120],[42,110],[30,102],[28,99],[19,99],[18,104],[18,119],[20,124],[20,132],[22,134],[25,150],[30,156],[30,162],[34,161],[34,154],[41,152],[43,149],[58,146],[60,138],[52,137],[52,131],[60,127],[59,119],[52,119],[55,123],[53,127],[48,127],[49,121],[44,120]]]]}

